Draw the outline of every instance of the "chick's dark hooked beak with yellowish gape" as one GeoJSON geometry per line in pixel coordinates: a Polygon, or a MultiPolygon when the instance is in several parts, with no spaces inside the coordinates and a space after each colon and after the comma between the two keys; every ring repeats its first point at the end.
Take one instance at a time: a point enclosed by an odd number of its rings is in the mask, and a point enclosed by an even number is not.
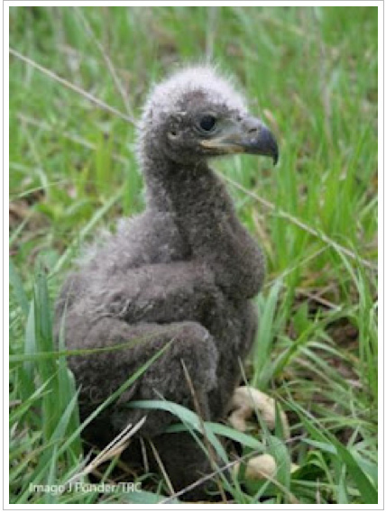
{"type": "Polygon", "coordinates": [[[251,153],[266,155],[279,160],[279,148],[271,131],[254,117],[243,117],[240,120],[220,126],[218,132],[201,142],[201,145],[219,153],[251,153]]]}

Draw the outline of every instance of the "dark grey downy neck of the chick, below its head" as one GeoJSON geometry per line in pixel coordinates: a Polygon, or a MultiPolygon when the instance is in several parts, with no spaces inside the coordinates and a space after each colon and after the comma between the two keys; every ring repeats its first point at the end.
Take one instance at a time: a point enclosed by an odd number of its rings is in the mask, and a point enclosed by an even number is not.
{"type": "Polygon", "coordinates": [[[253,298],[262,286],[262,253],[215,172],[206,162],[185,167],[161,160],[142,169],[148,208],[174,219],[192,258],[207,263],[229,298],[253,298]]]}

